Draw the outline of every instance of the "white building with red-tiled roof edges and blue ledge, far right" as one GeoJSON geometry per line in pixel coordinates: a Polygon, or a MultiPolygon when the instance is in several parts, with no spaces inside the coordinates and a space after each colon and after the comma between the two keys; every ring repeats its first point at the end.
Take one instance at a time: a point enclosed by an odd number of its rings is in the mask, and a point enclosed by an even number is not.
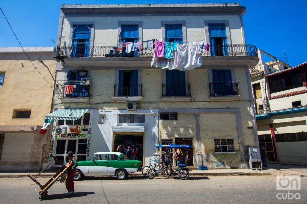
{"type": "Polygon", "coordinates": [[[269,161],[307,163],[307,62],[296,67],[259,50],[251,69],[259,145],[269,161]],[[261,54],[275,61],[264,63],[261,54]]]}

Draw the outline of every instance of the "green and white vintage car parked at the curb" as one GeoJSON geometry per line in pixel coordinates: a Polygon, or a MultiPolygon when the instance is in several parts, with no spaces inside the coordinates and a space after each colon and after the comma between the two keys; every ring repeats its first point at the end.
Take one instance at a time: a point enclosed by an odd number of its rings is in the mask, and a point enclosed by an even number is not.
{"type": "Polygon", "coordinates": [[[141,171],[142,161],[129,160],[120,152],[97,152],[89,161],[78,161],[74,180],[83,176],[112,176],[118,180],[126,178],[128,173],[141,171]]]}

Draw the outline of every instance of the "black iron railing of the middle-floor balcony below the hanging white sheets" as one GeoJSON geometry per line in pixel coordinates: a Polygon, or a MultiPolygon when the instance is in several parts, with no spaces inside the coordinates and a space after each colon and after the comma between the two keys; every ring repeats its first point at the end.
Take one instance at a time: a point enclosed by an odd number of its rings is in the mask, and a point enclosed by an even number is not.
{"type": "Polygon", "coordinates": [[[162,96],[191,96],[190,84],[162,84],[162,96]]]}

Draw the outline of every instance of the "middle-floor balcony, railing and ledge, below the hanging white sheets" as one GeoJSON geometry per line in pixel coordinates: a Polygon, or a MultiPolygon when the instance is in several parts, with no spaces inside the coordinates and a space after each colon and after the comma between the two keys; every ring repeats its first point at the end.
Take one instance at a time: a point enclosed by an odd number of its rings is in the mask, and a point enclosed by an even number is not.
{"type": "Polygon", "coordinates": [[[190,84],[162,84],[163,101],[183,102],[191,99],[190,84]]]}

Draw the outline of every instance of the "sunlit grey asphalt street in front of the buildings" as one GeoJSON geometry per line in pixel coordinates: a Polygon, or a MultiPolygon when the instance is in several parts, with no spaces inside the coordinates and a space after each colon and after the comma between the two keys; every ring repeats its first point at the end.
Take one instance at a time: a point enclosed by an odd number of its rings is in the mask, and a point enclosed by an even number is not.
{"type": "MultiPolygon", "coordinates": [[[[38,178],[45,184],[48,178],[38,178]]],[[[29,178],[0,178],[0,202],[6,203],[307,203],[307,177],[301,178],[300,199],[276,198],[276,176],[190,176],[153,180],[145,177],[87,178],[76,181],[76,194],[66,197],[65,184],[54,184],[40,200],[29,178]]],[[[290,196],[291,197],[291,196],[290,196]]]]}

